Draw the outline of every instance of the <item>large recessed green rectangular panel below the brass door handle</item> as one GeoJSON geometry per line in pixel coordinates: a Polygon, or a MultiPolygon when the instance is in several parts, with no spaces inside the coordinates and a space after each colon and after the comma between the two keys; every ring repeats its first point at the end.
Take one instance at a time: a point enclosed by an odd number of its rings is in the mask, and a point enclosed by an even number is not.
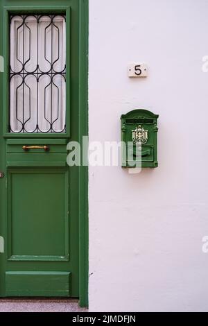
{"type": "Polygon", "coordinates": [[[9,259],[69,260],[68,191],[68,170],[8,171],[9,259]]]}

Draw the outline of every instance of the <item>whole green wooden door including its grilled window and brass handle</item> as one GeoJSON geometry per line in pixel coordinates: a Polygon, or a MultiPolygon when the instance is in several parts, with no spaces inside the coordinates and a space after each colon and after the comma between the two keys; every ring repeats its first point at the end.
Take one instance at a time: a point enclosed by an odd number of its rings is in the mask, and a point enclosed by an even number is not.
{"type": "Polygon", "coordinates": [[[79,1],[1,0],[0,24],[0,295],[78,297],[79,1]]]}

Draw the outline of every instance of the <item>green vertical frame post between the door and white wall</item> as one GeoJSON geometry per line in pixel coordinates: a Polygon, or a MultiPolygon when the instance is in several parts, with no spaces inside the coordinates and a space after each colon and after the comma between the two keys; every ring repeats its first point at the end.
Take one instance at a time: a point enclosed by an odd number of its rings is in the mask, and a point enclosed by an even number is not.
{"type": "MultiPolygon", "coordinates": [[[[79,1],[78,139],[88,135],[88,0],[79,1]]],[[[4,53],[7,55],[8,53],[4,53]]],[[[2,55],[2,53],[0,53],[2,55]]],[[[5,86],[5,83],[3,83],[5,86]]],[[[5,89],[3,89],[5,94],[5,89]]],[[[1,139],[0,139],[1,141],[1,139]]],[[[79,166],[79,303],[88,306],[88,167],[79,166]]]]}

